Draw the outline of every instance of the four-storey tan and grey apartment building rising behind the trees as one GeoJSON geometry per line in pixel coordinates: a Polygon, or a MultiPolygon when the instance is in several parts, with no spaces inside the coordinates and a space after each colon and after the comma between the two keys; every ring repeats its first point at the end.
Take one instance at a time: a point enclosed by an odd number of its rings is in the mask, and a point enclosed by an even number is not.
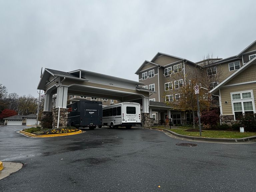
{"type": "MultiPolygon", "coordinates": [[[[191,113],[174,110],[165,102],[182,99],[179,89],[184,84],[191,83],[190,79],[195,77],[200,87],[208,91],[214,89],[255,55],[256,42],[235,56],[225,59],[208,58],[199,62],[158,52],[152,60],[145,60],[135,74],[138,75],[139,82],[144,83],[140,86],[156,92],[149,97],[150,113],[155,122],[163,124],[168,115],[174,124],[189,124],[193,119],[191,113]]],[[[214,98],[218,97],[213,96],[214,98]]],[[[217,106],[219,105],[221,101],[218,99],[217,106]]]]}

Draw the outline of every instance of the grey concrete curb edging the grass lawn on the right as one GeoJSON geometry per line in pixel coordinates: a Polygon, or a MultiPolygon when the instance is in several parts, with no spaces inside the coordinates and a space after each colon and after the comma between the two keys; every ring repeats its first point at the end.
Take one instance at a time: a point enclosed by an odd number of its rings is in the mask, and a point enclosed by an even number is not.
{"type": "Polygon", "coordinates": [[[149,128],[149,129],[154,129],[154,130],[163,130],[171,133],[172,135],[175,135],[180,138],[185,138],[185,139],[191,139],[191,140],[199,140],[199,141],[215,141],[215,142],[246,142],[246,141],[251,141],[253,139],[256,139],[256,136],[251,136],[251,137],[244,137],[244,138],[239,138],[239,139],[226,139],[226,138],[210,138],[210,137],[192,137],[192,136],[186,136],[186,135],[180,135],[178,133],[175,133],[173,131],[167,130],[167,129],[162,129],[162,128],[149,128]]]}

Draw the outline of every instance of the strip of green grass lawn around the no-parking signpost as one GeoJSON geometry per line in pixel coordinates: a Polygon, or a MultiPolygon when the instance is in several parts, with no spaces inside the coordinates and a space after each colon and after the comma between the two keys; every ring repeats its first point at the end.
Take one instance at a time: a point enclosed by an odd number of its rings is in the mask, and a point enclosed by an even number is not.
{"type": "MultiPolygon", "coordinates": [[[[168,129],[175,133],[187,136],[200,137],[199,132],[190,132],[185,129],[168,129]]],[[[244,132],[240,133],[239,131],[211,131],[211,130],[203,130],[202,137],[210,137],[210,138],[227,138],[227,139],[239,139],[243,137],[256,136],[256,132],[244,132]]]]}

